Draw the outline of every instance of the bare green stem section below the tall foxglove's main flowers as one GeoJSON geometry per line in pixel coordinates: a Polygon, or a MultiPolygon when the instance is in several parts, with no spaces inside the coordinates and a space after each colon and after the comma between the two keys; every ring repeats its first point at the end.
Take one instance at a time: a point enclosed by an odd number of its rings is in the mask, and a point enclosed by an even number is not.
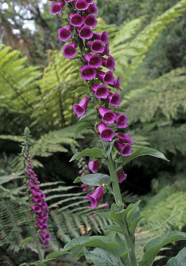
{"type": "Polygon", "coordinates": [[[119,187],[119,183],[118,183],[118,177],[115,173],[114,162],[113,162],[111,154],[107,160],[107,164],[108,164],[108,168],[109,168],[109,172],[110,172],[110,176],[111,176],[111,180],[112,180],[114,198],[115,198],[116,204],[121,206],[122,205],[122,196],[121,196],[120,187],[119,187]]]}

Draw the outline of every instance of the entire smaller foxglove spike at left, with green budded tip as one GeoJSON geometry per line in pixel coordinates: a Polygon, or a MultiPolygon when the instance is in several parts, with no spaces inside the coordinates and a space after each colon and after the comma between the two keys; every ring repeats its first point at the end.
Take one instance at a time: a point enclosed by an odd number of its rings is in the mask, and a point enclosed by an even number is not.
{"type": "Polygon", "coordinates": [[[29,208],[31,214],[32,228],[34,234],[34,240],[38,251],[39,260],[42,260],[39,242],[48,247],[50,241],[50,233],[47,233],[47,218],[48,218],[48,206],[45,200],[45,194],[39,188],[39,180],[37,175],[33,171],[31,157],[29,155],[29,147],[31,145],[30,130],[25,129],[24,142],[22,143],[22,155],[24,163],[24,173],[26,181],[26,189],[29,200],[29,208]]]}

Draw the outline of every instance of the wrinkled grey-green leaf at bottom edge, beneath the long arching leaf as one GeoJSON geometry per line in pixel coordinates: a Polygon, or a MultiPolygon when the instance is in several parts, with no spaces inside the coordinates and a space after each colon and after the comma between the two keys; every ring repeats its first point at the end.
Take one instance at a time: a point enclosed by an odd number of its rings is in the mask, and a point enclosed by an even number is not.
{"type": "Polygon", "coordinates": [[[121,262],[100,248],[95,248],[93,251],[88,251],[86,249],[85,257],[87,260],[91,260],[95,266],[124,266],[121,262]]]}

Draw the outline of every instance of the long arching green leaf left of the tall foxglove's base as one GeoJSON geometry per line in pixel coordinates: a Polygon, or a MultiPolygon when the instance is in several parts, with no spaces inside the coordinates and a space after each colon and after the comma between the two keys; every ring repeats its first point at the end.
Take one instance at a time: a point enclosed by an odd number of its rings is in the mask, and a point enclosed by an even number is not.
{"type": "Polygon", "coordinates": [[[81,236],[72,239],[69,243],[67,243],[62,251],[68,251],[74,249],[76,247],[98,247],[102,250],[106,251],[108,254],[113,256],[115,259],[121,262],[121,248],[120,245],[113,242],[110,238],[106,236],[81,236]]]}

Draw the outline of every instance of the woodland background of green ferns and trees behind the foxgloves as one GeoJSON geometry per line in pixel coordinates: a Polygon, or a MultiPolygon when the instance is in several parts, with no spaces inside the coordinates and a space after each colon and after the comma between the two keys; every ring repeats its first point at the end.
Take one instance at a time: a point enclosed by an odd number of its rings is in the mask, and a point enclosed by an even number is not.
{"type": "MultiPolygon", "coordinates": [[[[167,230],[186,230],[186,0],[94,0],[96,31],[109,33],[115,76],[122,79],[121,105],[135,141],[164,153],[170,162],[139,157],[125,166],[121,184],[126,205],[141,199],[145,218],[136,233],[142,245],[167,230]]],[[[93,131],[73,140],[80,123],[72,111],[81,97],[70,93],[85,82],[74,60],[62,56],[58,30],[64,12],[53,16],[47,0],[0,0],[0,262],[19,266],[38,260],[34,242],[19,247],[32,230],[29,222],[20,144],[31,130],[31,158],[50,207],[50,245],[57,251],[79,235],[112,234],[109,224],[92,216],[86,193],[73,184],[89,158],[69,163],[74,152],[99,147],[93,131]],[[59,20],[60,19],[60,20],[59,20]]],[[[89,116],[93,123],[94,117],[89,116]]],[[[81,121],[82,122],[82,121],[81,121]]],[[[100,171],[108,173],[103,164],[100,171]]],[[[102,202],[113,203],[110,195],[102,202]]],[[[163,266],[184,243],[168,245],[155,266],[163,266]]],[[[74,251],[74,254],[77,250],[74,251]]],[[[74,254],[50,265],[91,265],[74,254]]],[[[33,264],[34,265],[34,264],[33,264]]]]}

